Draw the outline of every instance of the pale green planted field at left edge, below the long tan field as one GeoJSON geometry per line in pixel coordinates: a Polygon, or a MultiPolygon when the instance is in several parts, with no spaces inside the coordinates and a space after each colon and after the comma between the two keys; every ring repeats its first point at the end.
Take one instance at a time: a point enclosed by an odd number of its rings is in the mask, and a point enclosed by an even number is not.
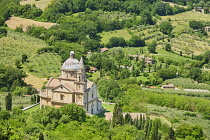
{"type": "Polygon", "coordinates": [[[39,48],[47,46],[41,39],[8,30],[7,36],[0,38],[0,63],[14,65],[15,60],[21,60],[23,54],[31,58],[39,48]]]}

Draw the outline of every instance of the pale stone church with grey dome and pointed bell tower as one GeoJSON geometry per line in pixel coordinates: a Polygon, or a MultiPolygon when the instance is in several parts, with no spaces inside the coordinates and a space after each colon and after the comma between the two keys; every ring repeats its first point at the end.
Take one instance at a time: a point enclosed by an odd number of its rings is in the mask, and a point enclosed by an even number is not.
{"type": "Polygon", "coordinates": [[[87,80],[83,59],[74,58],[74,51],[61,67],[61,76],[50,78],[40,92],[40,107],[61,107],[75,103],[89,114],[97,114],[102,109],[102,102],[98,99],[97,86],[87,80]]]}

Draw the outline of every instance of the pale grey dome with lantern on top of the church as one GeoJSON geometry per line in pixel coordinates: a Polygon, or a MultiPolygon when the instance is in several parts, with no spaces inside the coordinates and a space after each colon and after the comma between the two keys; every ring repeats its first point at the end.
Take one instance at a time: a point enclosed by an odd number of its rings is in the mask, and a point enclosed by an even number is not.
{"type": "Polygon", "coordinates": [[[79,61],[74,58],[74,51],[71,51],[70,57],[63,63],[61,69],[77,70],[78,66],[79,66],[79,61]]]}

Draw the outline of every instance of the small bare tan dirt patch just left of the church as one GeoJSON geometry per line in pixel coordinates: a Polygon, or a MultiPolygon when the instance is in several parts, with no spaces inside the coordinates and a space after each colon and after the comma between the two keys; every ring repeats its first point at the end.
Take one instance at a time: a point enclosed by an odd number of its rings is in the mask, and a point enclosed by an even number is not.
{"type": "Polygon", "coordinates": [[[30,73],[27,73],[27,77],[25,78],[25,82],[27,84],[32,85],[33,87],[40,89],[43,86],[43,83],[47,81],[47,78],[39,78],[30,73]]]}

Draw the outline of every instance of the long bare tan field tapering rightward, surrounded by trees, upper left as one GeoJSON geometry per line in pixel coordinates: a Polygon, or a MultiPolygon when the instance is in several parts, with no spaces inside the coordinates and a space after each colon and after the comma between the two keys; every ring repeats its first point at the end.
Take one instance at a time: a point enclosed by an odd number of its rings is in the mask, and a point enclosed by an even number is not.
{"type": "Polygon", "coordinates": [[[20,18],[20,17],[15,17],[15,16],[10,17],[9,20],[7,20],[5,23],[11,29],[15,29],[16,27],[22,26],[23,31],[26,31],[27,27],[32,26],[32,25],[37,26],[37,27],[43,26],[46,29],[56,25],[56,23],[34,21],[31,19],[20,18]]]}

